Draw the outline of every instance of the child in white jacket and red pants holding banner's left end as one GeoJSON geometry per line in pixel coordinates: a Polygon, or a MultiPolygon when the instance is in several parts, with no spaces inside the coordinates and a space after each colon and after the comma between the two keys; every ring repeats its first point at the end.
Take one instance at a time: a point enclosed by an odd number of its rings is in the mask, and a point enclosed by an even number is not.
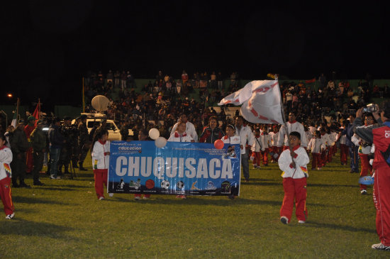
{"type": "Polygon", "coordinates": [[[96,133],[97,140],[91,149],[92,168],[94,168],[95,191],[99,200],[104,199],[104,186],[107,186],[108,162],[110,160],[110,142],[108,131],[102,129],[96,133]]]}

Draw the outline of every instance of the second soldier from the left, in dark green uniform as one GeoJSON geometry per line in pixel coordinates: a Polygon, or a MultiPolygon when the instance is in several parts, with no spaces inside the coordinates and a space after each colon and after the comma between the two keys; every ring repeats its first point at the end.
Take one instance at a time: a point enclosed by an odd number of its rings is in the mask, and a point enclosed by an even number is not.
{"type": "Polygon", "coordinates": [[[42,186],[43,183],[39,180],[39,172],[43,167],[43,154],[46,152],[46,134],[42,131],[45,123],[38,120],[37,126],[30,136],[30,142],[33,146],[33,184],[42,186]]]}

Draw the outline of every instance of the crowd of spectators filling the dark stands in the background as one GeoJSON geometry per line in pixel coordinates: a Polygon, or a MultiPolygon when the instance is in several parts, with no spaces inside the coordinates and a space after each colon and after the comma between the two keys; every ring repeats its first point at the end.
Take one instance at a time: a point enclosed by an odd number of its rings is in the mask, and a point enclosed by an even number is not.
{"type": "MultiPolygon", "coordinates": [[[[130,72],[109,70],[106,75],[101,71],[87,73],[84,92],[86,104],[98,94],[108,97],[110,106],[106,114],[118,124],[129,121],[129,127],[135,133],[140,128],[157,127],[162,136],[168,138],[170,127],[182,113],[188,114],[199,134],[210,116],[218,116],[222,128],[232,123],[225,114],[226,106],[221,106],[219,113],[213,106],[243,87],[241,81],[237,72],[230,77],[224,77],[221,72],[195,72],[190,76],[183,70],[181,78],[174,79],[159,71],[155,79],[136,86],[130,72]]],[[[325,121],[340,123],[372,97],[383,98],[390,94],[387,84],[379,87],[372,85],[369,79],[362,79],[356,86],[351,86],[347,80],[326,79],[323,74],[314,83],[280,81],[279,84],[285,114],[294,112],[306,127],[319,126],[325,121]]],[[[86,111],[92,110],[87,105],[86,111]]]]}

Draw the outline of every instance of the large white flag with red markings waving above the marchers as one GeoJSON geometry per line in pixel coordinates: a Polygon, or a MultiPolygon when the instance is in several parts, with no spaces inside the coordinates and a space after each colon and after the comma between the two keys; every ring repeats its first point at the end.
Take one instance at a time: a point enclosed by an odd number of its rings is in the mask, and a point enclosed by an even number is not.
{"type": "Polygon", "coordinates": [[[241,106],[241,114],[252,123],[283,124],[282,102],[277,80],[249,82],[242,89],[223,98],[218,105],[241,106]]]}

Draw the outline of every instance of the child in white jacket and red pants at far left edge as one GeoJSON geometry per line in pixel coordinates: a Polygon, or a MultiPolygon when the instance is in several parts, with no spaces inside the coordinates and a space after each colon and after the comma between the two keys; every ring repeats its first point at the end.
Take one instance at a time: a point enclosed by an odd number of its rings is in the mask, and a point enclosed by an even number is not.
{"type": "Polygon", "coordinates": [[[4,205],[6,219],[12,219],[13,203],[11,197],[11,167],[12,162],[11,149],[6,147],[6,137],[0,134],[0,198],[4,205]]]}

